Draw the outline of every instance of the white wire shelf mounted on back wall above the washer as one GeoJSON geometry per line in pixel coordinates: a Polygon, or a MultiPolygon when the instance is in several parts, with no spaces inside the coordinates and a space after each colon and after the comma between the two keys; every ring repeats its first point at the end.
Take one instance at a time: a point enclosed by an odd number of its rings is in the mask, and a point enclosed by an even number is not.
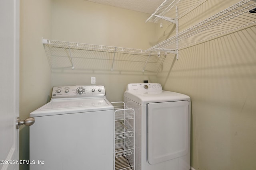
{"type": "MultiPolygon", "coordinates": [[[[112,60],[112,66],[111,70],[113,71],[114,67],[114,61],[116,61],[116,57],[118,56],[133,56],[136,57],[137,60],[135,61],[142,61],[145,63],[142,72],[144,72],[146,65],[148,63],[157,63],[157,57],[159,57],[160,54],[158,52],[152,52],[152,51],[145,51],[142,49],[130,49],[130,48],[124,48],[124,47],[112,47],[112,46],[104,46],[104,45],[93,45],[93,44],[85,44],[85,43],[74,43],[74,42],[66,42],[66,41],[56,41],[56,40],[49,40],[49,39],[42,39],[42,43],[44,45],[44,49],[46,52],[46,56],[48,58],[48,62],[50,63],[50,66],[56,62],[56,58],[60,57],[68,57],[69,61],[71,63],[71,67],[74,70],[75,68],[75,59],[79,58],[84,58],[85,53],[92,53],[92,52],[103,52],[103,53],[108,53],[108,57],[112,55],[112,59],[109,59],[106,57],[108,60],[112,60]],[[154,57],[154,58],[150,58],[154,57]],[[145,58],[150,58],[151,60],[148,61],[145,58]]],[[[86,58],[86,57],[85,57],[86,58]]],[[[93,58],[92,58],[93,59],[93,58]]],[[[125,59],[124,59],[125,60],[125,59]]],[[[58,61],[61,61],[60,59],[58,61]]],[[[61,65],[61,64],[58,64],[61,65]]]]}

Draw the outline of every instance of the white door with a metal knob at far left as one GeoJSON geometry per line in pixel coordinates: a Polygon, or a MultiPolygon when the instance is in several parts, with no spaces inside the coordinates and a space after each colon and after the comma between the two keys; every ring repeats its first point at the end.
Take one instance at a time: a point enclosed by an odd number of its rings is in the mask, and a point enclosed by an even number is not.
{"type": "Polygon", "coordinates": [[[18,170],[19,0],[0,0],[0,169],[18,170]]]}

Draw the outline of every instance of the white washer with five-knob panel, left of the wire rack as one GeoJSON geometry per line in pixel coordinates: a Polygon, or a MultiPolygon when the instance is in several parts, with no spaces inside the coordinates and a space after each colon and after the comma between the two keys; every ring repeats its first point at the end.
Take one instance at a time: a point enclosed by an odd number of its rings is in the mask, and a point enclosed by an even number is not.
{"type": "Polygon", "coordinates": [[[30,170],[113,170],[114,108],[104,86],[53,87],[30,117],[30,170]]]}

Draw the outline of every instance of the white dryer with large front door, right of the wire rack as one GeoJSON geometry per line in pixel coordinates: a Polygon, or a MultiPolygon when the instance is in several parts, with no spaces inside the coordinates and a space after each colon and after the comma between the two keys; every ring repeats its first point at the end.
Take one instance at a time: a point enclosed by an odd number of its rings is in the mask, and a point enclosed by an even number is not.
{"type": "Polygon", "coordinates": [[[190,97],[160,84],[128,84],[135,111],[135,170],[190,170],[190,97]]]}

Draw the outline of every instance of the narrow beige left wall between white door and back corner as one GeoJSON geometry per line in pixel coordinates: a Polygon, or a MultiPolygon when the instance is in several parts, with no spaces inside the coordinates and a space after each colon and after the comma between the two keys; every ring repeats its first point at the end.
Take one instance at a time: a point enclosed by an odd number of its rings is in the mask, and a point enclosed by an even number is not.
{"type": "MultiPolygon", "coordinates": [[[[51,71],[42,37],[51,36],[52,0],[20,1],[20,118],[46,104],[51,71]]],[[[29,160],[29,128],[20,127],[20,160],[29,160]]],[[[28,169],[20,165],[20,170],[28,169]]]]}

